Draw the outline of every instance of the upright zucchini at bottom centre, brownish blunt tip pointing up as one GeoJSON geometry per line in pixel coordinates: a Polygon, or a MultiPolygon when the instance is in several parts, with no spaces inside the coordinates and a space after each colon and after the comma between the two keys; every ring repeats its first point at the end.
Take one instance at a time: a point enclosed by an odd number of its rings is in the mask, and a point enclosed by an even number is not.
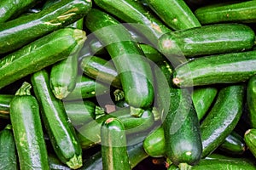
{"type": "Polygon", "coordinates": [[[103,170],[130,170],[123,122],[117,118],[108,118],[102,123],[101,138],[103,170]]]}

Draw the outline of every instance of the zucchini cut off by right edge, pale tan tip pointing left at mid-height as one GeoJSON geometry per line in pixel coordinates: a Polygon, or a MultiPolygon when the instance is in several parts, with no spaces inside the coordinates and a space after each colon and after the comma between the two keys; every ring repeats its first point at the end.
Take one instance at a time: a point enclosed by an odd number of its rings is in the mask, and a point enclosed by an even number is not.
{"type": "Polygon", "coordinates": [[[178,87],[245,82],[256,73],[256,51],[218,54],[189,60],[176,68],[178,87]]]}

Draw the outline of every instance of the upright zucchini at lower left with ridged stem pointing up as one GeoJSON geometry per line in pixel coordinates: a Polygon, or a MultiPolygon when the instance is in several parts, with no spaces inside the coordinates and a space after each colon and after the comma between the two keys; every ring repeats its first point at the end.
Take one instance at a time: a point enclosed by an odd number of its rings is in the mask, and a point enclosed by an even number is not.
{"type": "Polygon", "coordinates": [[[19,156],[20,169],[49,169],[39,105],[24,82],[10,103],[10,120],[19,156]]]}

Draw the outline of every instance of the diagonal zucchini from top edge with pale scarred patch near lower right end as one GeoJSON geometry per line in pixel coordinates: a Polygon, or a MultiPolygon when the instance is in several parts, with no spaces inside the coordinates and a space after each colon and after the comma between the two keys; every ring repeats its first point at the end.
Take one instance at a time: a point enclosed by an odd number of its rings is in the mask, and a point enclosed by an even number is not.
{"type": "Polygon", "coordinates": [[[110,14],[113,14],[119,20],[130,24],[144,37],[147,37],[149,42],[157,44],[160,38],[166,32],[171,31],[154,14],[144,8],[141,3],[133,0],[95,0],[97,6],[103,8],[110,14]],[[124,10],[125,9],[125,10],[124,10]]]}

